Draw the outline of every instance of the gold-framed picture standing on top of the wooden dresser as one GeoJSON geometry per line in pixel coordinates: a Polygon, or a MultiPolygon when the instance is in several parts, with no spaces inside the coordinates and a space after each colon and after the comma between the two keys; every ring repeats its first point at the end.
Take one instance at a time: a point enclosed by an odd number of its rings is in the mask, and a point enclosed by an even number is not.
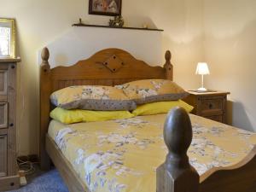
{"type": "Polygon", "coordinates": [[[0,58],[15,58],[15,20],[0,18],[0,58]]]}

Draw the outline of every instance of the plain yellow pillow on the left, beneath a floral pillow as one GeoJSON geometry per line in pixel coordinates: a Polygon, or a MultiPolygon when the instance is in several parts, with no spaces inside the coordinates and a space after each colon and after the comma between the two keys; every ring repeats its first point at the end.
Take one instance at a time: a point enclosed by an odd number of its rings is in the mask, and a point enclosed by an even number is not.
{"type": "Polygon", "coordinates": [[[50,112],[49,116],[64,124],[110,119],[128,119],[134,117],[129,111],[89,111],[81,109],[67,110],[63,108],[55,108],[50,112]]]}

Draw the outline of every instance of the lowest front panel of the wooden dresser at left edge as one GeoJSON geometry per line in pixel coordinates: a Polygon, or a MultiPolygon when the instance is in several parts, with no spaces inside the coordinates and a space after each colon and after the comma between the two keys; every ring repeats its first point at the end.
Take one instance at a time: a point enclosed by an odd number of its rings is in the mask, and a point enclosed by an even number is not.
{"type": "Polygon", "coordinates": [[[0,177],[7,176],[7,135],[0,135],[0,177]]]}

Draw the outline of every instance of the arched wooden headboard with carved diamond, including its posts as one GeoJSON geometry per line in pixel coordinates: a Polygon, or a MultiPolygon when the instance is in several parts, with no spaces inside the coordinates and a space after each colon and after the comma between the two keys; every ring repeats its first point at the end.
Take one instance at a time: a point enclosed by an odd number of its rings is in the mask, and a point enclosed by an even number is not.
{"type": "Polygon", "coordinates": [[[122,49],[103,49],[89,59],[70,67],[49,66],[49,49],[42,51],[40,66],[40,160],[47,169],[49,158],[45,151],[45,136],[49,127],[51,104],[49,96],[55,90],[71,85],[124,84],[137,79],[171,79],[173,67],[171,52],[166,51],[164,67],[151,67],[122,49]]]}

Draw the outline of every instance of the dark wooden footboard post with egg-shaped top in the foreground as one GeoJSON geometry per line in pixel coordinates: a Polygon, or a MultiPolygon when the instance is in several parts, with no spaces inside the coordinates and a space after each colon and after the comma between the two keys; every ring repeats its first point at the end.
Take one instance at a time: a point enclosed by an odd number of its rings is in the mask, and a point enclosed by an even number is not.
{"type": "Polygon", "coordinates": [[[199,175],[189,165],[187,150],[192,141],[192,125],[183,108],[168,113],[164,139],[169,153],[166,162],[157,168],[157,192],[198,192],[199,175]]]}

